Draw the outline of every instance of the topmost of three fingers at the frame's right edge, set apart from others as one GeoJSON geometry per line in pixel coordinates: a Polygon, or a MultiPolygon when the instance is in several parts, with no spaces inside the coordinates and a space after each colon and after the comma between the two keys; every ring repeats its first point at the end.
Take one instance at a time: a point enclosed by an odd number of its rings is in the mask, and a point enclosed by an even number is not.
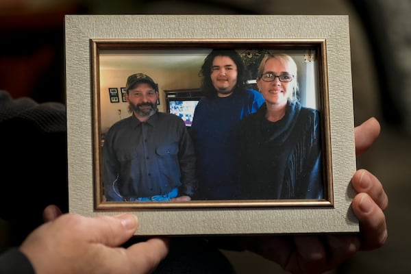
{"type": "Polygon", "coordinates": [[[354,134],[356,139],[356,155],[359,156],[364,153],[375,139],[378,138],[381,126],[374,117],[368,119],[358,127],[354,128],[354,134]]]}

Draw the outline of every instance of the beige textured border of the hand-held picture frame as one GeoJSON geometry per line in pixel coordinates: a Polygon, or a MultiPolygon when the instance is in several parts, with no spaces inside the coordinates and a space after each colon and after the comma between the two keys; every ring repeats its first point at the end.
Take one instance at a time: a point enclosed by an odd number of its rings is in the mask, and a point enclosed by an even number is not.
{"type": "Polygon", "coordinates": [[[348,16],[67,15],[65,29],[70,212],[86,216],[133,212],[140,220],[138,235],[358,232],[350,208],[356,157],[348,16]],[[283,27],[267,29],[267,25],[283,27]],[[333,206],[95,210],[90,40],[227,37],[326,41],[333,206]]]}

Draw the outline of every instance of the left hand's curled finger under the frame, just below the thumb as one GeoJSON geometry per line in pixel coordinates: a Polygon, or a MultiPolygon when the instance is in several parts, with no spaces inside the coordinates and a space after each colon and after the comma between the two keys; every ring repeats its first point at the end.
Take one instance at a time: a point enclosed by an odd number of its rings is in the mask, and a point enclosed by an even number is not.
{"type": "Polygon", "coordinates": [[[151,238],[127,248],[129,262],[134,264],[138,273],[151,273],[169,253],[168,238],[151,238]]]}

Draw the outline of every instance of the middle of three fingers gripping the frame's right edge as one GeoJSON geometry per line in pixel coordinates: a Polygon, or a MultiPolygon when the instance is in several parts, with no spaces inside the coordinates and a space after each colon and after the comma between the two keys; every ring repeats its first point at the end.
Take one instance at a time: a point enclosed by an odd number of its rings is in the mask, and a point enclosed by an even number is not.
{"type": "Polygon", "coordinates": [[[371,199],[377,203],[379,208],[383,211],[386,210],[388,207],[388,196],[384,191],[381,182],[379,182],[379,179],[372,173],[365,169],[360,169],[354,173],[351,183],[358,193],[367,193],[370,195],[371,199]]]}

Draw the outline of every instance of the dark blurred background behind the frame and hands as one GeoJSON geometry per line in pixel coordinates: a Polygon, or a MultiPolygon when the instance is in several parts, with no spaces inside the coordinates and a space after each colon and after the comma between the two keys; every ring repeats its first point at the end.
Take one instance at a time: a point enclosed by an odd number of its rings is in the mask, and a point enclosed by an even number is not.
{"type": "MultiPolygon", "coordinates": [[[[384,247],[360,252],[334,272],[411,272],[411,1],[1,0],[0,89],[64,103],[64,14],[348,14],[355,123],[371,116],[382,123],[358,168],[372,171],[388,192],[389,236],[384,247]]],[[[284,273],[253,253],[224,253],[238,273],[284,273]]]]}

